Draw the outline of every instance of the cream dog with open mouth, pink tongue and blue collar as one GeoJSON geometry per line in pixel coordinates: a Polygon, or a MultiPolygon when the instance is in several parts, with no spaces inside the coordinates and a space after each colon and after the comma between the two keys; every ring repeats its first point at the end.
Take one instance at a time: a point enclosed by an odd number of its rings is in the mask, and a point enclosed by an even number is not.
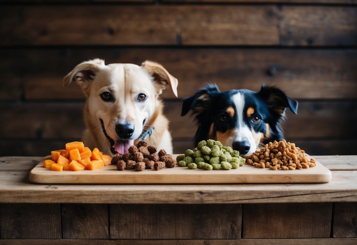
{"type": "Polygon", "coordinates": [[[159,95],[166,85],[177,97],[177,79],[152,61],[141,66],[109,64],[94,59],[77,65],[63,79],[67,86],[76,81],[87,96],[82,141],[90,149],[106,154],[124,154],[137,141],[172,153],[169,121],[162,114],[159,95]]]}

